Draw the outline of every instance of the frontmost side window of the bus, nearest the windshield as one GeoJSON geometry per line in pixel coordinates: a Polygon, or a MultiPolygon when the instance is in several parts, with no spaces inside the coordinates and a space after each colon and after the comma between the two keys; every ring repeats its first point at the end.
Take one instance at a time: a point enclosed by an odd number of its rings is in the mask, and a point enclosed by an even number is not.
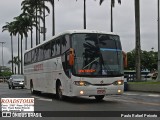
{"type": "Polygon", "coordinates": [[[69,35],[65,35],[62,38],[62,54],[70,48],[69,35]]]}

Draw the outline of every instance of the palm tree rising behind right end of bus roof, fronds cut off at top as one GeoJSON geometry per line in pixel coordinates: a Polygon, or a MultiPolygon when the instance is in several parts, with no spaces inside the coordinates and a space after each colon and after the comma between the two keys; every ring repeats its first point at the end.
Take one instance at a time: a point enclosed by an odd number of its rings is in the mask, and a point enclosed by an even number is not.
{"type": "MultiPolygon", "coordinates": [[[[100,5],[104,0],[100,0],[100,5]]],[[[118,0],[118,3],[121,4],[121,0],[118,0]]],[[[111,32],[113,32],[113,7],[115,6],[115,0],[111,0],[111,32]]]]}

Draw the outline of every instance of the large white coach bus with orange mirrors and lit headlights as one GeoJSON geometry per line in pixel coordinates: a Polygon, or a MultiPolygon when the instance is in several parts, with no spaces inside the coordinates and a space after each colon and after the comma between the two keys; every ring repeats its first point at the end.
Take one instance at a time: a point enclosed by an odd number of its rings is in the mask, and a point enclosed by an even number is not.
{"type": "Polygon", "coordinates": [[[120,37],[93,30],[70,30],[24,54],[25,86],[31,93],[63,96],[122,94],[123,52],[120,37]]]}

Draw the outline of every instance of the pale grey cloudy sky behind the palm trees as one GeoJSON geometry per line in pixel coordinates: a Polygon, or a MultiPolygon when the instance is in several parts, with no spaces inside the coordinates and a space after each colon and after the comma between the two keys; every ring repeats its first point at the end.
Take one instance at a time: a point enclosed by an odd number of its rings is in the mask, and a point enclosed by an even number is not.
{"type": "MultiPolygon", "coordinates": [[[[0,4],[0,29],[6,22],[13,21],[21,11],[23,0],[1,0],[0,4]]],[[[99,0],[86,0],[87,29],[110,31],[110,0],[105,0],[99,6],[99,0]]],[[[51,9],[51,5],[46,3],[51,9]]],[[[157,0],[140,0],[141,14],[141,48],[150,51],[153,47],[158,49],[157,40],[157,0]]],[[[49,39],[52,35],[52,13],[46,17],[47,33],[49,39]]],[[[135,48],[135,18],[134,0],[122,0],[119,5],[116,1],[113,10],[113,31],[120,35],[123,50],[128,52],[135,48]]],[[[56,34],[65,30],[83,29],[83,0],[55,0],[55,31],[56,34]]],[[[35,33],[35,32],[34,32],[35,33]]],[[[42,37],[42,36],[41,36],[42,37]]],[[[28,38],[30,39],[30,37],[28,38]]],[[[42,41],[43,37],[41,38],[42,41]]],[[[14,56],[17,56],[17,37],[14,40],[14,56]]],[[[0,32],[0,42],[4,44],[4,64],[11,60],[10,36],[7,31],[0,32]]],[[[34,42],[35,46],[35,42],[34,42]]],[[[30,41],[28,41],[30,48],[30,41]]],[[[2,56],[2,45],[0,44],[0,56],[2,56]]],[[[0,57],[0,65],[2,65],[0,57]]]]}

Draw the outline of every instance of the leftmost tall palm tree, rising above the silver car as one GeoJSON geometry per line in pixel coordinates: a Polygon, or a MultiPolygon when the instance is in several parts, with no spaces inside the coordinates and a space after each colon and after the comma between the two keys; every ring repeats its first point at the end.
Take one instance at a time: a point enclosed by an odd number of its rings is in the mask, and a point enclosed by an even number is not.
{"type": "MultiPolygon", "coordinates": [[[[2,27],[2,32],[3,31],[8,31],[11,36],[11,58],[13,60],[13,34],[14,34],[14,27],[15,27],[15,22],[6,22],[6,25],[2,27]]],[[[12,73],[13,73],[13,63],[12,63],[12,73]]]]}

